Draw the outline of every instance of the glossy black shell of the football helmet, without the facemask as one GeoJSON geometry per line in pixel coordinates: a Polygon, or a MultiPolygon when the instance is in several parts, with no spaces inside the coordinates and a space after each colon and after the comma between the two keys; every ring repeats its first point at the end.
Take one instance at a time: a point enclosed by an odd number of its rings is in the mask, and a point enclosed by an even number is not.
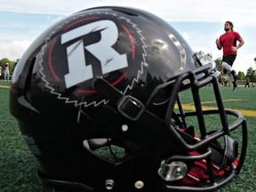
{"type": "Polygon", "coordinates": [[[115,178],[115,191],[132,191],[130,186],[145,177],[144,190],[150,191],[159,188],[151,182],[158,178],[159,156],[170,155],[170,146],[161,146],[169,140],[166,131],[124,119],[93,82],[104,78],[146,105],[157,85],[194,70],[191,48],[156,15],[125,7],[93,8],[60,20],[30,45],[12,77],[10,109],[42,178],[100,191],[105,180],[115,178]],[[131,130],[125,135],[124,124],[131,130]],[[137,153],[142,148],[159,151],[112,164],[84,148],[84,140],[95,138],[116,140],[137,153]],[[144,142],[147,147],[140,146],[144,142]]]}

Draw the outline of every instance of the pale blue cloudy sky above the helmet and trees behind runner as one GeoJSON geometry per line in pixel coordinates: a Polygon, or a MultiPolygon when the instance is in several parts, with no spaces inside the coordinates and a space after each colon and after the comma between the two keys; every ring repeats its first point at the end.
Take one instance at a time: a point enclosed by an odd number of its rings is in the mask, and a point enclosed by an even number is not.
{"type": "Polygon", "coordinates": [[[0,60],[20,59],[28,46],[56,21],[74,12],[102,5],[139,8],[166,20],[195,52],[222,57],[215,40],[231,20],[245,41],[233,68],[246,73],[256,68],[256,12],[254,0],[0,0],[0,60]]]}

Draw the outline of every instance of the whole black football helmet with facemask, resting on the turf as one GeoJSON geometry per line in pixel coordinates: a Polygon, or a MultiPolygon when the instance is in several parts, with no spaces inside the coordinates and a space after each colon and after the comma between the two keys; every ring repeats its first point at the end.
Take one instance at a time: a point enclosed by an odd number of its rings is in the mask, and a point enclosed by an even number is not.
{"type": "Polygon", "coordinates": [[[46,184],[211,191],[240,172],[247,146],[244,117],[224,108],[218,75],[156,15],[96,7],[30,45],[12,76],[10,109],[46,184]],[[201,102],[209,84],[216,109],[201,102]],[[194,109],[184,107],[188,95],[194,109]],[[231,138],[237,130],[242,139],[231,138]]]}

